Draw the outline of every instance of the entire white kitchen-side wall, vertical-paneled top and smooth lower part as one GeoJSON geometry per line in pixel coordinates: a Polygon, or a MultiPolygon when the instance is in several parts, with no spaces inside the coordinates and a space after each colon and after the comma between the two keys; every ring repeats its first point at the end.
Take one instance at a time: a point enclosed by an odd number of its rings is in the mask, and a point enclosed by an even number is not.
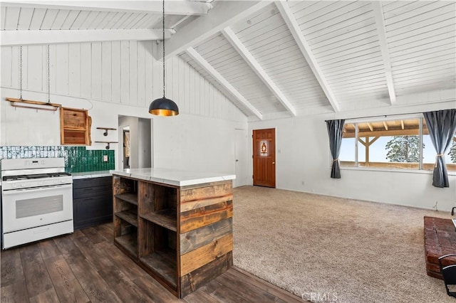
{"type": "MultiPolygon", "coordinates": [[[[1,47],[1,99],[19,97],[19,47],[1,47]]],[[[24,99],[47,101],[46,46],[23,48],[24,99]]],[[[177,117],[155,117],[150,102],[162,97],[162,65],[152,42],[71,43],[51,46],[51,102],[86,108],[92,142],[118,141],[118,115],[153,119],[156,167],[234,173],[234,129],[247,117],[227,97],[178,57],[167,60],[166,97],[180,108],[177,117]]],[[[58,145],[58,112],[14,109],[0,102],[1,145],[58,145]]],[[[111,144],[118,159],[120,144],[111,144]]],[[[93,143],[90,149],[104,149],[93,143]]],[[[118,161],[116,160],[116,169],[118,161]]]]}

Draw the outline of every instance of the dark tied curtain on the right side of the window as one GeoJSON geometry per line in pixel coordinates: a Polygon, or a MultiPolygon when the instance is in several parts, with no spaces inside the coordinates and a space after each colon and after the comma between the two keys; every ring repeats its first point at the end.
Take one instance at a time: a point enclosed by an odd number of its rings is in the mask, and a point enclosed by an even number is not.
{"type": "Polygon", "coordinates": [[[445,165],[445,152],[450,147],[456,130],[456,110],[437,110],[423,112],[426,119],[432,144],[437,156],[435,157],[432,185],[435,187],[450,187],[447,166],[445,165]]]}

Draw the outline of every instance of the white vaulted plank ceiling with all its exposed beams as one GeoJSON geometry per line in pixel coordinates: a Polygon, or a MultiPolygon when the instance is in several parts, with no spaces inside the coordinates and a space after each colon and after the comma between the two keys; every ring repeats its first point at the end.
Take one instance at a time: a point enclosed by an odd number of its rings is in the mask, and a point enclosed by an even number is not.
{"type": "MultiPolygon", "coordinates": [[[[251,120],[456,87],[455,1],[166,1],[165,11],[166,56],[251,120]]],[[[161,1],[3,1],[0,21],[2,46],[162,40],[161,1]]]]}

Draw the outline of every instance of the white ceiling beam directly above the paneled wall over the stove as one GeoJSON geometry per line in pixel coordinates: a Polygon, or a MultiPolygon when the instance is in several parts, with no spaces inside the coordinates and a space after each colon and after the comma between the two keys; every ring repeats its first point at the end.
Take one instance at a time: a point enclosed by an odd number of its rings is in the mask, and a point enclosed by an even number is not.
{"type": "MultiPolygon", "coordinates": [[[[166,30],[165,38],[174,31],[166,30]]],[[[0,31],[0,46],[78,43],[91,41],[162,40],[161,29],[0,31]]]]}

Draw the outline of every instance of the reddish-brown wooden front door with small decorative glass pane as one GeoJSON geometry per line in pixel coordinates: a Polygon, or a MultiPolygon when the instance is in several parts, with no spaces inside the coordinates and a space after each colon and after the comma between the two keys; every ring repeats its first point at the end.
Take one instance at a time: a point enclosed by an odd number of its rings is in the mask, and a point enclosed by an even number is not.
{"type": "Polygon", "coordinates": [[[276,129],[255,129],[254,185],[276,187],[276,129]]]}

